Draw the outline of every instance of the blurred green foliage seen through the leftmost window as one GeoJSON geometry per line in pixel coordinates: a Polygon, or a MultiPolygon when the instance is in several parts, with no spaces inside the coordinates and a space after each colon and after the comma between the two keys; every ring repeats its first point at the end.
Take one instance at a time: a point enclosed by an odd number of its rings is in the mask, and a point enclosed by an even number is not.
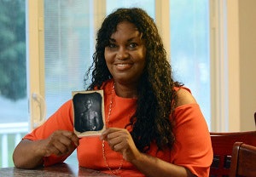
{"type": "Polygon", "coordinates": [[[0,96],[26,96],[26,11],[24,0],[0,0],[0,96]]]}

